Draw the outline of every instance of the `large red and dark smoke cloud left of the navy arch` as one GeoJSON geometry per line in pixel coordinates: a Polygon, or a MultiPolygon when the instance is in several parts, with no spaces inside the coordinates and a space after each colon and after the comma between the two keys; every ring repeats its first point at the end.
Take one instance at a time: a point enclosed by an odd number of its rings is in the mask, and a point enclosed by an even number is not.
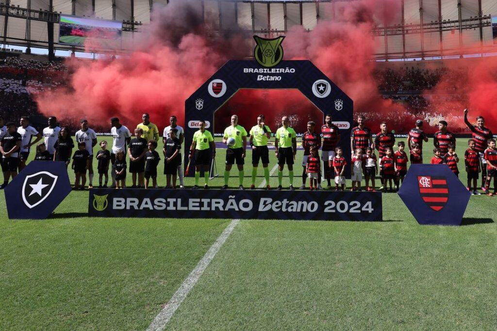
{"type": "MultiPolygon", "coordinates": [[[[139,41],[130,55],[69,61],[70,86],[41,94],[39,109],[74,123],[86,118],[90,126],[105,127],[118,116],[132,128],[144,112],[160,128],[170,115],[183,123],[185,99],[228,59],[249,54],[236,31],[223,36],[208,31],[198,2],[171,1],[154,10],[148,31],[135,34],[139,41]]],[[[88,44],[94,47],[94,41],[88,44]]]]}

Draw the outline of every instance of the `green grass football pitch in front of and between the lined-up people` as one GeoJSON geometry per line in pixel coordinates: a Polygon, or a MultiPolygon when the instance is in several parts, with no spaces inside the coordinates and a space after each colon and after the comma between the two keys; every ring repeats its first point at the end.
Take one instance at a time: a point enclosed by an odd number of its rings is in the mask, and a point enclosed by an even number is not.
{"type": "MultiPolygon", "coordinates": [[[[218,149],[221,175],[224,156],[218,149]]],[[[250,174],[246,165],[246,187],[250,174]]],[[[263,180],[259,166],[256,186],[263,180]]],[[[495,330],[495,199],[472,196],[460,227],[418,225],[393,193],[383,222],[242,219],[164,330],[495,330]]],[[[87,205],[87,191],[72,192],[47,220],[8,220],[0,194],[0,330],[146,330],[232,223],[90,218],[87,205]]]]}

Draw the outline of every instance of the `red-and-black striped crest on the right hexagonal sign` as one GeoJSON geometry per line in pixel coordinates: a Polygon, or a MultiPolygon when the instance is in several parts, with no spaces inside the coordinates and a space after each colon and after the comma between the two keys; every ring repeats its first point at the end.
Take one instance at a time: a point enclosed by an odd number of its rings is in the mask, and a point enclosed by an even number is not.
{"type": "Polygon", "coordinates": [[[433,210],[439,211],[449,199],[449,188],[445,177],[417,176],[421,199],[433,210]]]}

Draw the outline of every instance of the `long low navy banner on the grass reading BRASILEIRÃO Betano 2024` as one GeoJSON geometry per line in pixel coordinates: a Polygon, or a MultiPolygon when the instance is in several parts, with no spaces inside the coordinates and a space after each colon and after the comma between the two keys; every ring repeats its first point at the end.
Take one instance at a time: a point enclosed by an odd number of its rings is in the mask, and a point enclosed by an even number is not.
{"type": "Polygon", "coordinates": [[[91,189],[89,216],[381,221],[379,192],[91,189]]]}

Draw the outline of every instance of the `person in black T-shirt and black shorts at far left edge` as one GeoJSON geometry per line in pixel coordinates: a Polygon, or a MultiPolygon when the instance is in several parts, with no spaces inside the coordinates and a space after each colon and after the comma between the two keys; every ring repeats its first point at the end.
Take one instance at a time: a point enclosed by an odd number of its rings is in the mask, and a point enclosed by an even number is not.
{"type": "Polygon", "coordinates": [[[17,175],[19,150],[22,141],[22,137],[17,133],[13,122],[8,122],[5,127],[7,128],[7,134],[0,140],[1,169],[4,175],[3,184],[0,186],[1,189],[7,186],[10,177],[13,179],[17,175]]]}

